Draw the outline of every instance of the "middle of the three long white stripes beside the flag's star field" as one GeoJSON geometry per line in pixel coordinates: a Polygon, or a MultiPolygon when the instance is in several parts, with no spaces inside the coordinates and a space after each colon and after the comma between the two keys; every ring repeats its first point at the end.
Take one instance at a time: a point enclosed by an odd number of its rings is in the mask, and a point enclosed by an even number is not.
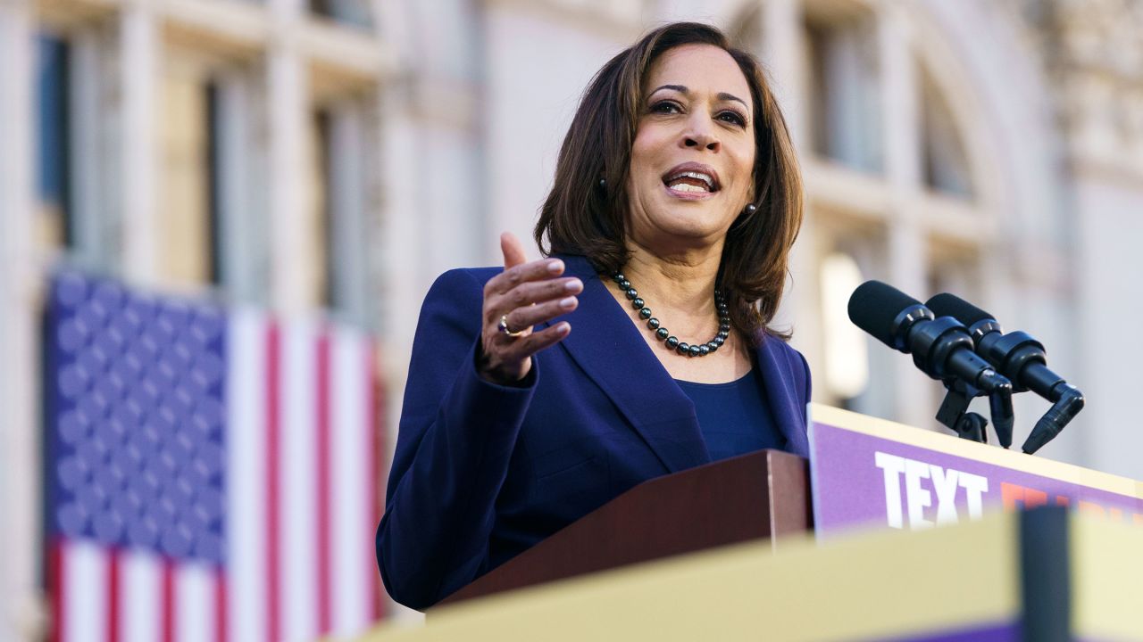
{"type": "Polygon", "coordinates": [[[317,623],[317,334],[310,321],[282,332],[282,636],[310,640],[317,623]]]}

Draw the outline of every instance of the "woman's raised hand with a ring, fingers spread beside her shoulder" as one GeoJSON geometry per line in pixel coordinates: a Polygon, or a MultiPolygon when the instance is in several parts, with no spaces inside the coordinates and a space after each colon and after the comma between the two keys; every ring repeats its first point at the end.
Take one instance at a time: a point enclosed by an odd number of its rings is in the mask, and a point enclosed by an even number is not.
{"type": "Polygon", "coordinates": [[[511,385],[531,370],[531,355],[559,343],[572,331],[567,321],[538,332],[533,326],[572,312],[578,305],[575,295],[583,282],[563,274],[558,258],[525,262],[523,246],[509,232],[501,234],[504,272],[485,284],[483,328],[481,330],[480,376],[511,385]],[[503,321],[503,323],[502,323],[503,321]]]}

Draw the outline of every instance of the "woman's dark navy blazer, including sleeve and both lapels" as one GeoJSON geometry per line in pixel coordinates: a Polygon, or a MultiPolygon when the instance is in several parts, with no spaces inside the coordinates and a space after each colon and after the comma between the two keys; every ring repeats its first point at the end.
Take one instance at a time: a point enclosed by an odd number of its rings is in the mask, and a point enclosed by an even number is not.
{"type": "MultiPolygon", "coordinates": [[[[583,257],[572,334],[537,354],[522,387],[475,370],[483,286],[454,270],[425,297],[397,452],[377,529],[390,595],[424,609],[629,488],[710,462],[694,404],[583,257]]],[[[757,351],[786,449],[806,456],[806,360],[766,336],[757,351]]]]}

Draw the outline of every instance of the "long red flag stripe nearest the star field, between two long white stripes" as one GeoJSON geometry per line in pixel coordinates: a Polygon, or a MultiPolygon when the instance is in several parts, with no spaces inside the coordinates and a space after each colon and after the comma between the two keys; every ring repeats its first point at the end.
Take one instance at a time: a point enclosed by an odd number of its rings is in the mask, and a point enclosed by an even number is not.
{"type": "Polygon", "coordinates": [[[281,557],[278,530],[280,511],[278,505],[279,462],[281,440],[279,439],[281,408],[281,331],[271,321],[266,332],[266,637],[271,642],[281,640],[280,589],[278,565],[281,557]]]}

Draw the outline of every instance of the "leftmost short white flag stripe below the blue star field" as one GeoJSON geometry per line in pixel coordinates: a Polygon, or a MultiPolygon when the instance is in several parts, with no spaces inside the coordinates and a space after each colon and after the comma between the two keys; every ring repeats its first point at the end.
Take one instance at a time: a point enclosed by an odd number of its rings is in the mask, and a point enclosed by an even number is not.
{"type": "Polygon", "coordinates": [[[107,562],[98,546],[64,545],[64,633],[66,642],[103,642],[107,635],[107,562]]]}

